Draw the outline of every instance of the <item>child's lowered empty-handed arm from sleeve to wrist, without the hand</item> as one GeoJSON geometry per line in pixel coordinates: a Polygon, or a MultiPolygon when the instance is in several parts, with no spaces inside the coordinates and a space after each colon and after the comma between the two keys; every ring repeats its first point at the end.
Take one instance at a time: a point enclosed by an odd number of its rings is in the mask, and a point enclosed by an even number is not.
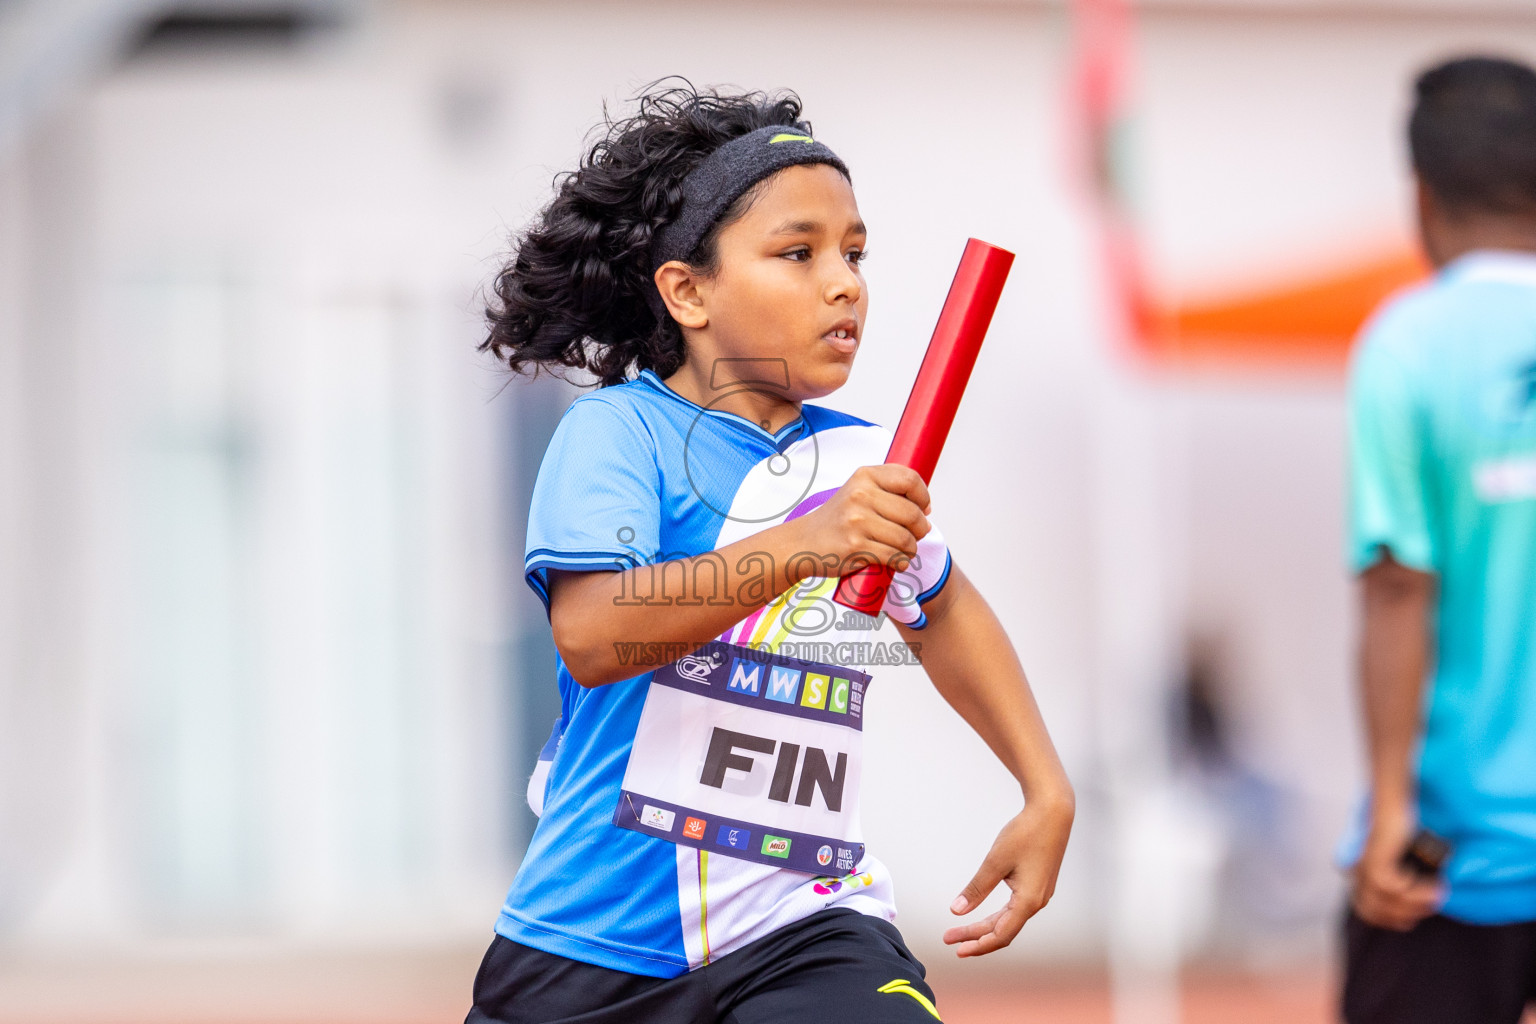
{"type": "Polygon", "coordinates": [[[1018,780],[1025,800],[1072,814],[1072,783],[1057,757],[1014,645],[986,599],[958,565],[928,603],[928,626],[902,628],[922,643],[922,660],[940,695],[1018,780]]]}

